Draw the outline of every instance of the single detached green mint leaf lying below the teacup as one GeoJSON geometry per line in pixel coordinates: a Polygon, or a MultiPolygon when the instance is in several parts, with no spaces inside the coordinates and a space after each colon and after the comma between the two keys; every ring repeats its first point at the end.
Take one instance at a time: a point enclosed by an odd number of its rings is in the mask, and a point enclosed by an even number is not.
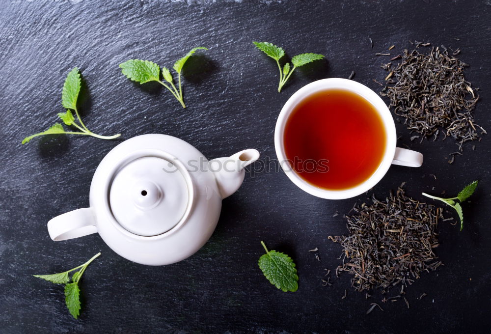
{"type": "Polygon", "coordinates": [[[297,269],[295,263],[286,254],[277,251],[268,251],[264,243],[261,241],[266,254],[259,258],[259,268],[264,276],[282,291],[295,292],[299,288],[297,269]]]}

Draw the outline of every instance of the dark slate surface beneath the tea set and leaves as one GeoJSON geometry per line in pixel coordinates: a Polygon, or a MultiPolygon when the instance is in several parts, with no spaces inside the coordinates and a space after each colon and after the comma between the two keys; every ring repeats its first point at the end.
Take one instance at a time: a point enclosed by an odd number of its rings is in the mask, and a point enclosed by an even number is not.
{"type": "Polygon", "coordinates": [[[381,303],[380,294],[350,289],[349,276],[323,287],[324,268],[339,263],[328,235],[345,233],[342,215],[356,199],[307,195],[282,172],[246,177],[223,202],[218,228],[191,258],[165,267],[138,265],[112,252],[97,235],[53,242],[52,217],[88,205],[92,174],[123,139],[163,133],[215,158],[255,147],[275,158],[273,129],[297,89],[321,78],[348,77],[372,89],[386,73],[374,56],[408,40],[461,48],[467,78],[480,87],[476,122],[491,129],[491,3],[483,1],[3,1],[0,9],[0,333],[485,333],[490,327],[490,142],[466,147],[453,165],[446,141],[411,142],[398,124],[399,145],[425,155],[419,169],[393,166],[374,188],[385,196],[407,181],[409,195],[456,193],[481,186],[464,205],[466,226],[440,225],[437,254],[445,263],[407,289],[411,306],[381,303]],[[370,48],[369,38],[374,41],[370,48]],[[460,39],[460,40],[457,40],[460,39]],[[268,40],[289,56],[327,56],[293,75],[278,94],[274,63],[251,45],[268,40]],[[132,57],[171,65],[191,47],[184,80],[188,109],[164,89],[131,83],[118,64],[132,57]],[[93,131],[121,140],[61,137],[21,140],[56,120],[68,71],[82,69],[88,93],[81,110],[93,131]],[[435,174],[437,180],[429,174],[435,174]],[[339,212],[340,215],[332,218],[339,212]],[[300,288],[283,293],[262,276],[265,240],[296,261],[300,288]],[[320,261],[308,250],[318,247],[320,261]],[[100,256],[81,281],[83,308],[73,319],[61,286],[31,274],[59,272],[100,256]],[[345,289],[346,299],[341,300],[345,289]],[[428,295],[419,300],[423,293],[428,295]]]}

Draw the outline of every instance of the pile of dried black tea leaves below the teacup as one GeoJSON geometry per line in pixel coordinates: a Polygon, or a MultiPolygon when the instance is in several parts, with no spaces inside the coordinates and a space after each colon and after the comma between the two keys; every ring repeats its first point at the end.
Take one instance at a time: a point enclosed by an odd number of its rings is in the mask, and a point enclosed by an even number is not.
{"type": "Polygon", "coordinates": [[[355,214],[345,216],[349,235],[328,237],[344,248],[336,276],[353,275],[357,291],[377,287],[384,293],[396,285],[403,291],[422,272],[442,265],[433,252],[442,209],[408,197],[402,187],[384,201],[373,196],[371,205],[355,206],[355,214]]]}

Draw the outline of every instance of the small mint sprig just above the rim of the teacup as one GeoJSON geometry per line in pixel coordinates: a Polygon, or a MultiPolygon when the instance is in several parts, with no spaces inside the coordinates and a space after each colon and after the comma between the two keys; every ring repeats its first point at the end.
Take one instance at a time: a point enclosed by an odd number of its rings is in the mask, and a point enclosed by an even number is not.
{"type": "Polygon", "coordinates": [[[276,45],[273,45],[272,43],[268,43],[268,42],[252,42],[252,43],[256,46],[256,48],[258,48],[266,55],[276,60],[276,64],[278,64],[278,69],[279,69],[278,93],[281,91],[281,88],[288,81],[293,71],[295,71],[297,67],[308,64],[309,62],[312,62],[314,60],[319,60],[324,58],[323,55],[311,54],[311,53],[294,56],[292,58],[293,68],[290,70],[289,62],[283,65],[283,67],[281,67],[279,63],[279,59],[285,56],[285,51],[282,48],[277,47],[276,45]]]}

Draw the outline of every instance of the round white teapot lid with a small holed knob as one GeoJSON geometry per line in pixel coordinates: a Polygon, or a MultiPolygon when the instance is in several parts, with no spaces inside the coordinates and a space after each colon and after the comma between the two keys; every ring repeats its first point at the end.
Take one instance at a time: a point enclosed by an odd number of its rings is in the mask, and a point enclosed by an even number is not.
{"type": "Polygon", "coordinates": [[[191,177],[176,159],[143,156],[119,168],[109,186],[116,221],[140,236],[163,234],[189,214],[191,177]]]}

